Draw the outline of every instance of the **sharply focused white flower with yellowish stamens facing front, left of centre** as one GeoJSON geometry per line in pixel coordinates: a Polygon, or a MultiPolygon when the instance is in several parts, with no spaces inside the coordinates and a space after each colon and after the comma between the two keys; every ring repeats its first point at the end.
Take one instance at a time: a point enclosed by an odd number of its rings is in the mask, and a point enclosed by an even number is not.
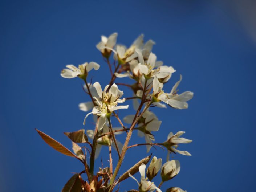
{"type": "Polygon", "coordinates": [[[118,109],[127,109],[129,107],[129,105],[117,106],[118,103],[125,102],[125,99],[119,99],[120,97],[122,97],[123,91],[120,91],[117,85],[113,84],[110,87],[109,92],[106,92],[109,86],[110,85],[107,85],[104,91],[102,91],[101,85],[98,82],[93,84],[93,87],[95,87],[98,94],[98,97],[94,97],[98,106],[93,107],[92,112],[88,113],[85,116],[84,124],[88,115],[90,114],[98,115],[99,116],[98,129],[101,130],[104,124],[106,123],[107,117],[110,117],[112,111],[115,111],[118,109]]]}

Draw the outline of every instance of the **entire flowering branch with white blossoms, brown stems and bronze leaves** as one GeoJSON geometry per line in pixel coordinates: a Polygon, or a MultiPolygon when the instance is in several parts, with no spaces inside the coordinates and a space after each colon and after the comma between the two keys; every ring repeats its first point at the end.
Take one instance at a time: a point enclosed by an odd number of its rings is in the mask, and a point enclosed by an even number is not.
{"type": "MultiPolygon", "coordinates": [[[[157,114],[153,112],[154,107],[188,108],[187,101],[192,99],[193,93],[191,91],[178,93],[182,75],[180,75],[179,81],[174,84],[172,89],[169,89],[167,82],[176,70],[172,66],[163,65],[162,61],[157,60],[157,56],[152,52],[155,42],[148,40],[144,43],[144,35],[141,34],[129,47],[126,47],[117,43],[117,36],[117,33],[113,33],[109,37],[101,36],[101,41],[96,45],[111,74],[111,79],[109,83],[106,83],[107,85],[104,89],[102,89],[98,81],[92,83],[94,79],[90,77],[92,69],[98,70],[100,68],[100,65],[96,62],[86,62],[78,65],[78,67],[66,65],[67,69],[61,71],[61,76],[64,78],[79,77],[82,79],[85,83],[83,89],[89,96],[89,101],[78,105],[81,111],[86,112],[83,122],[86,130],[65,132],[65,135],[72,140],[73,152],[50,138],[50,136],[37,130],[42,139],[55,150],[77,158],[83,163],[83,171],[70,178],[62,189],[63,192],[118,191],[119,188],[114,190],[116,185],[129,178],[129,176],[138,183],[138,190],[132,189],[130,191],[162,192],[160,189],[162,184],[174,178],[180,172],[180,162],[174,159],[169,160],[170,153],[191,156],[187,151],[178,150],[179,144],[192,142],[192,140],[180,137],[185,133],[184,131],[178,131],[176,134],[170,132],[166,141],[154,135],[163,125],[163,119],[159,120],[157,114]],[[91,83],[88,83],[89,77],[91,83]],[[125,83],[126,81],[123,78],[127,77],[131,79],[127,82],[132,81],[133,83],[125,83]],[[123,91],[118,87],[119,85],[129,87],[131,90],[130,96],[125,94],[126,97],[124,97],[123,91]],[[164,89],[163,87],[167,88],[164,89]],[[119,110],[128,109],[129,105],[124,105],[123,103],[127,103],[127,100],[130,99],[133,100],[135,113],[120,118],[121,112],[119,113],[119,110]],[[94,129],[89,128],[90,123],[86,123],[90,114],[94,117],[94,129]],[[113,119],[117,121],[113,121],[113,119]],[[118,122],[118,126],[113,127],[113,122],[118,122]],[[139,137],[145,138],[145,143],[129,146],[134,130],[138,131],[139,137]],[[117,137],[121,136],[120,134],[123,132],[126,132],[126,134],[122,134],[126,138],[125,142],[121,143],[117,137]],[[84,146],[80,146],[81,144],[84,144],[84,146]],[[90,147],[85,146],[85,144],[90,147]],[[106,163],[102,162],[102,168],[95,172],[95,159],[100,155],[102,146],[107,146],[109,150],[109,159],[106,162],[109,166],[103,168],[106,163]],[[151,159],[151,155],[149,155],[139,160],[138,163],[134,164],[122,175],[118,175],[127,150],[139,146],[146,146],[146,152],[149,152],[152,147],[165,147],[168,151],[167,161],[162,164],[162,158],[154,156],[146,170],[146,164],[151,159]],[[113,161],[112,148],[118,154],[116,161],[113,161]],[[117,162],[115,167],[113,162],[117,162]],[[139,181],[133,176],[137,172],[141,174],[139,181]],[[87,175],[87,180],[85,181],[81,177],[84,173],[87,175]],[[155,185],[153,182],[154,177],[157,175],[160,175],[162,179],[159,185],[155,185]]],[[[101,79],[98,80],[100,81],[101,79]]],[[[106,82],[106,79],[103,80],[106,82]]],[[[165,131],[168,128],[161,128],[161,130],[165,131]]],[[[104,157],[104,159],[106,158],[104,157]]],[[[179,187],[171,187],[167,189],[167,192],[184,191],[179,187]]]]}

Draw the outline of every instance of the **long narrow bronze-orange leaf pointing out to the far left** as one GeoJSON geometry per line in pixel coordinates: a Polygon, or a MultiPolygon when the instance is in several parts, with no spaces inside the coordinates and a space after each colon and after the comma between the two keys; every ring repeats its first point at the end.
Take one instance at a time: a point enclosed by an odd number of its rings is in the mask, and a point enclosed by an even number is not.
{"type": "MultiPolygon", "coordinates": [[[[56,140],[54,140],[53,138],[51,138],[49,135],[46,135],[45,133],[43,133],[42,131],[39,131],[36,129],[36,131],[38,132],[38,134],[41,136],[41,138],[52,148],[54,148],[55,150],[57,150],[58,152],[64,154],[64,155],[68,155],[71,157],[75,157],[78,158],[75,154],[73,154],[71,151],[68,150],[68,148],[66,148],[65,146],[63,146],[62,144],[60,144],[59,142],[57,142],[56,140]]],[[[79,159],[79,158],[78,158],[79,159]]]]}

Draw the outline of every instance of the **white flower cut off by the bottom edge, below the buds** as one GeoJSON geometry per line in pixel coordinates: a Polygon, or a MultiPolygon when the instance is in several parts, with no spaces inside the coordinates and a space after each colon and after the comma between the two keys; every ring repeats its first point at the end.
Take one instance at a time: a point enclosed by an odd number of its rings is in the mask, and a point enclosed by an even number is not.
{"type": "Polygon", "coordinates": [[[135,179],[134,176],[132,176],[130,173],[129,176],[133,178],[139,185],[139,191],[140,192],[147,192],[147,191],[155,191],[155,189],[158,192],[162,192],[161,189],[159,189],[153,182],[147,181],[147,178],[145,178],[145,170],[146,170],[146,165],[144,163],[139,166],[139,173],[141,173],[141,182],[139,183],[137,179],[135,179]]]}

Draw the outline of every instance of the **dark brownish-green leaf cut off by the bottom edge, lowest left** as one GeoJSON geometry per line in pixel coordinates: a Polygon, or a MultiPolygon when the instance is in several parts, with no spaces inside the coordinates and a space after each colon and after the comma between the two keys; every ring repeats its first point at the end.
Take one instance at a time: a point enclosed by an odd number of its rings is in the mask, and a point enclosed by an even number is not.
{"type": "Polygon", "coordinates": [[[68,182],[65,184],[61,192],[81,192],[82,183],[79,179],[79,174],[73,175],[68,182]]]}

